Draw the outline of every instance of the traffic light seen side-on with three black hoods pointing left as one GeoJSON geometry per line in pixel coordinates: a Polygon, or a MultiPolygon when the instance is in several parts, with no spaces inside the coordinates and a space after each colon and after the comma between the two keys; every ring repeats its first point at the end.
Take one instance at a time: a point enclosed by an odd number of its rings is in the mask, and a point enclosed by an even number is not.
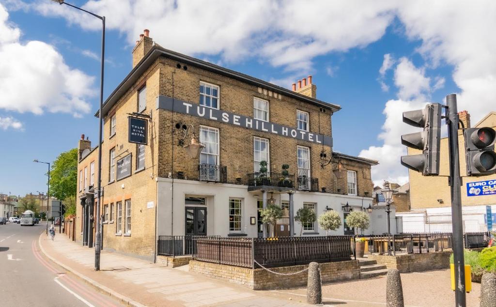
{"type": "Polygon", "coordinates": [[[422,172],[423,176],[439,175],[441,105],[434,103],[421,110],[403,112],[403,123],[424,128],[424,131],[401,136],[401,144],[423,152],[418,155],[401,156],[401,164],[411,170],[422,172]]]}

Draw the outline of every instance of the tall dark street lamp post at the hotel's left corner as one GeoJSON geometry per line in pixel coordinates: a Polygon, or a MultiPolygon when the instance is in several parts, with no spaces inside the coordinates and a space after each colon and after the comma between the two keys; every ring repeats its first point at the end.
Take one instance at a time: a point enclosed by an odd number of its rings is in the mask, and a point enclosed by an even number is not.
{"type": "Polygon", "coordinates": [[[102,20],[102,58],[101,58],[101,69],[100,69],[100,111],[98,112],[99,118],[99,132],[98,132],[98,190],[95,190],[98,202],[96,204],[96,219],[95,219],[95,271],[100,270],[100,250],[102,248],[102,234],[100,232],[100,196],[101,194],[101,185],[102,185],[102,126],[103,126],[103,117],[102,117],[102,107],[103,107],[103,72],[104,72],[104,62],[105,62],[105,16],[99,16],[95,13],[82,9],[80,7],[74,6],[65,2],[64,0],[52,0],[54,2],[59,3],[60,5],[65,4],[70,7],[81,10],[85,13],[88,13],[100,20],[102,20]]]}

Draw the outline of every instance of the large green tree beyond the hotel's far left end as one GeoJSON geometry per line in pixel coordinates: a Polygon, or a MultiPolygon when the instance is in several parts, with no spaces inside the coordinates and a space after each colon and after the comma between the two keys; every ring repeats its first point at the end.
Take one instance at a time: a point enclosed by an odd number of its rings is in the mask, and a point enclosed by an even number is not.
{"type": "Polygon", "coordinates": [[[50,171],[50,196],[61,200],[65,200],[69,196],[76,196],[77,156],[77,148],[72,148],[62,152],[55,159],[50,171]]]}

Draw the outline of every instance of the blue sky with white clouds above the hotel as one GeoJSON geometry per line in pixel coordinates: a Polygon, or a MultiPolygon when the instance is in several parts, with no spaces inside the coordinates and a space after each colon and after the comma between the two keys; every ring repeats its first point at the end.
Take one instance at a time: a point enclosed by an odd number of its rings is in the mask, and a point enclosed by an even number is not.
{"type": "MultiPolygon", "coordinates": [[[[165,48],[287,88],[312,74],[317,98],[342,106],[334,150],[379,160],[375,184],[408,181],[399,135],[415,130],[401,123],[402,111],[453,92],[473,123],[494,110],[489,1],[312,1],[305,9],[297,1],[212,1],[208,10],[205,1],[155,2],[70,2],[107,16],[105,97],[131,69],[144,28],[165,48]],[[459,22],[450,24],[453,16],[459,22]]],[[[0,0],[0,192],[45,191],[46,165],[32,160],[53,161],[81,133],[97,139],[101,32],[93,19],[48,0],[0,0]]]]}

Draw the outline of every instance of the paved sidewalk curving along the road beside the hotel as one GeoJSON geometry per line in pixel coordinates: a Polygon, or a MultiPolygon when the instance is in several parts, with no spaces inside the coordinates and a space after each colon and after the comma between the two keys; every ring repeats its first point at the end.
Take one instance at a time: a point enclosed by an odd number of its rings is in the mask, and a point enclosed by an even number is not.
{"type": "Polygon", "coordinates": [[[42,251],[101,291],[134,306],[308,306],[306,298],[274,291],[253,291],[187,272],[187,267],[160,264],[102,251],[100,272],[94,271],[93,248],[64,235],[50,241],[40,236],[42,251]]]}

